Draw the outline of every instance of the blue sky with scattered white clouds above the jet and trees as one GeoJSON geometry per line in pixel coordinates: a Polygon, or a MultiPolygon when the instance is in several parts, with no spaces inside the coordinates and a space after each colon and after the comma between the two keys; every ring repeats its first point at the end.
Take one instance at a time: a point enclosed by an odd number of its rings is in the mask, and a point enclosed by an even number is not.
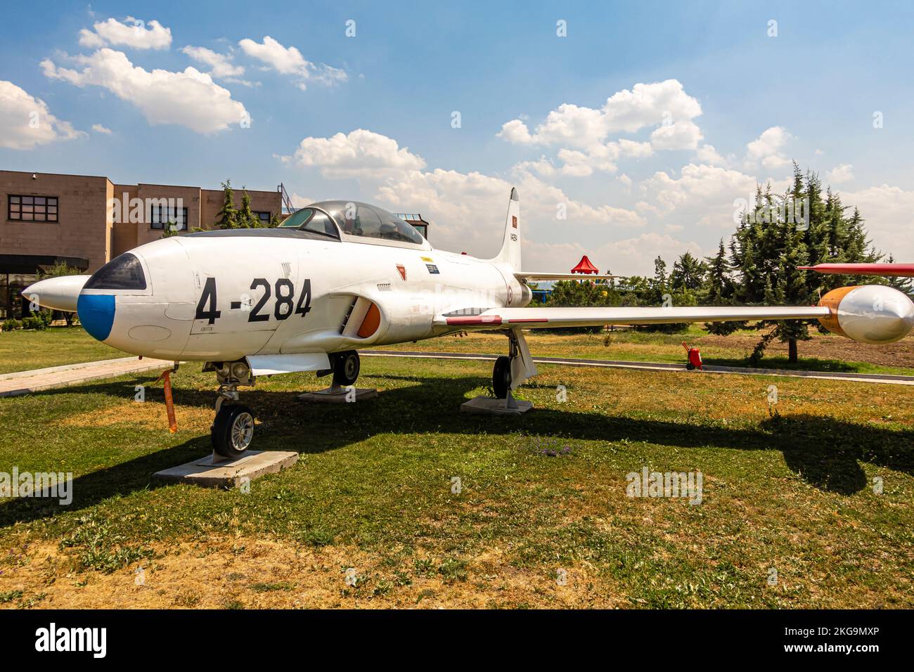
{"type": "Polygon", "coordinates": [[[478,254],[517,185],[526,268],[586,252],[647,273],[715,249],[734,201],[794,159],[914,259],[910,5],[66,6],[7,9],[0,167],[283,182],[419,210],[433,244],[478,254]]]}

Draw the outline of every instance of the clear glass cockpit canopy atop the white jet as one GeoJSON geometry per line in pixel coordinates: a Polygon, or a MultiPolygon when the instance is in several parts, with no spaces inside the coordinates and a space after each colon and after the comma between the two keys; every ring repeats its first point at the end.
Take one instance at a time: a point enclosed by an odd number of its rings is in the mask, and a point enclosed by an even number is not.
{"type": "Polygon", "coordinates": [[[387,210],[367,203],[327,200],[296,210],[280,226],[283,229],[303,229],[340,239],[340,233],[354,242],[390,241],[425,245],[425,239],[407,222],[387,210]]]}

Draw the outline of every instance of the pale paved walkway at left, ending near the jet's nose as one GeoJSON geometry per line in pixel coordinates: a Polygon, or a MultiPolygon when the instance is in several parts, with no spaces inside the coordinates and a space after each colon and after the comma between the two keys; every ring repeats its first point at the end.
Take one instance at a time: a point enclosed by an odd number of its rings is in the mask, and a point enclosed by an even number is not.
{"type": "Polygon", "coordinates": [[[17,397],[41,389],[64,388],[90,380],[117,378],[125,373],[171,368],[175,362],[165,359],[121,357],[99,362],[65,364],[62,367],[36,368],[31,371],[0,374],[0,397],[17,397]]]}

